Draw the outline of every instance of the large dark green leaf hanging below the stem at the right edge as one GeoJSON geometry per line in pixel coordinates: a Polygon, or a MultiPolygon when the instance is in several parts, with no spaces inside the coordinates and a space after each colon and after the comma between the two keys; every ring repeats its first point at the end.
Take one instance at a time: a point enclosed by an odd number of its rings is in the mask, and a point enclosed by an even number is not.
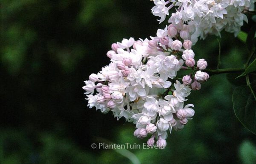
{"type": "MultiPolygon", "coordinates": [[[[252,83],[253,90],[256,89],[256,81],[252,83]]],[[[256,134],[256,101],[247,85],[236,87],[232,97],[234,112],[248,130],[256,134]]]]}

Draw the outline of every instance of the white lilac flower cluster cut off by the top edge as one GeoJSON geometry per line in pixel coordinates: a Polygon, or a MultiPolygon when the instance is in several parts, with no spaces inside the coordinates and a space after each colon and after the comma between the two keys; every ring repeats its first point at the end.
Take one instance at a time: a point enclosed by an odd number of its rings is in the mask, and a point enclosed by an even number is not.
{"type": "Polygon", "coordinates": [[[151,11],[153,15],[160,17],[160,23],[169,16],[169,9],[176,9],[168,20],[172,25],[168,36],[175,37],[175,31],[178,31],[182,39],[191,40],[195,44],[198,37],[205,39],[208,34],[220,35],[222,30],[237,36],[244,21],[248,22],[246,15],[243,14],[244,8],[248,8],[254,0],[153,1],[155,6],[151,11]],[[186,26],[181,26],[183,24],[186,26]]]}

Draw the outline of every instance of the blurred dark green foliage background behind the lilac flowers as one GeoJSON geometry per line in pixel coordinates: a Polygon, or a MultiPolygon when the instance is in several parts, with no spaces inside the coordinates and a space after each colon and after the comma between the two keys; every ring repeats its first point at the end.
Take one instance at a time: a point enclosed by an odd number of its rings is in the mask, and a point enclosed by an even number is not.
{"type": "MultiPolygon", "coordinates": [[[[136,143],[135,126],[112,113],[89,109],[82,86],[109,63],[111,43],[146,38],[163,28],[149,0],[1,0],[0,164],[142,164],[256,162],[256,136],[233,113],[232,93],[244,79],[212,76],[188,103],[195,116],[173,131],[167,147],[92,149],[92,143],[136,143]],[[231,79],[231,82],[229,82],[231,79]],[[131,154],[133,153],[133,154],[131,154]],[[125,157],[129,156],[129,158],[125,157]]],[[[252,22],[245,25],[248,31],[252,22]]],[[[242,68],[244,44],[221,33],[221,68],[242,68]]],[[[218,40],[209,36],[193,48],[215,69],[218,40]]]]}

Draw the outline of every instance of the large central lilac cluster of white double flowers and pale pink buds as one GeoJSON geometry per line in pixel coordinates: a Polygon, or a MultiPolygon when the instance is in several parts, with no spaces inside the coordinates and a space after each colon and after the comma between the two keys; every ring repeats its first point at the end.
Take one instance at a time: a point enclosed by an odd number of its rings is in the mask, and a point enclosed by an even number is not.
{"type": "Polygon", "coordinates": [[[207,62],[199,59],[195,64],[187,27],[169,25],[150,40],[131,37],[113,43],[107,52],[111,63],[84,81],[88,106],[124,117],[136,124],[134,136],[150,136],[148,145],[157,139],[157,146],[165,148],[167,131],[182,129],[194,116],[194,105],[185,105],[186,97],[209,79],[202,72],[207,62]],[[183,69],[191,74],[183,76],[181,84],[177,72],[183,69]]]}

